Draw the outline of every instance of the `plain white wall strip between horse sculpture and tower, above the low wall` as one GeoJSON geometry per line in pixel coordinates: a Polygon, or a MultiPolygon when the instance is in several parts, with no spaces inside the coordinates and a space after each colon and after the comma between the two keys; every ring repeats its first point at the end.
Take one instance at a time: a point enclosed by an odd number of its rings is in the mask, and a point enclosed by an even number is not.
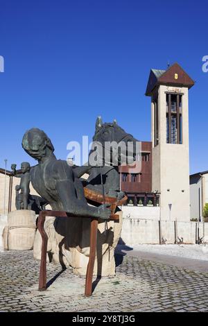
{"type": "Polygon", "coordinates": [[[123,217],[159,220],[160,207],[121,206],[123,217]]]}

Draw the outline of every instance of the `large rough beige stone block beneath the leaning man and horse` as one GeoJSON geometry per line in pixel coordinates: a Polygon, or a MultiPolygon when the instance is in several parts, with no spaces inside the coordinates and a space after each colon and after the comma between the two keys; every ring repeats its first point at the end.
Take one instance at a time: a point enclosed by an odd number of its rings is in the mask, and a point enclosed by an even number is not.
{"type": "MultiPolygon", "coordinates": [[[[98,223],[94,275],[115,275],[114,248],[121,236],[122,212],[119,221],[98,223]]],[[[73,267],[76,275],[86,275],[89,261],[89,218],[46,218],[44,230],[49,237],[47,251],[55,264],[73,267]]],[[[41,257],[42,239],[37,230],[33,248],[36,259],[41,257]]]]}

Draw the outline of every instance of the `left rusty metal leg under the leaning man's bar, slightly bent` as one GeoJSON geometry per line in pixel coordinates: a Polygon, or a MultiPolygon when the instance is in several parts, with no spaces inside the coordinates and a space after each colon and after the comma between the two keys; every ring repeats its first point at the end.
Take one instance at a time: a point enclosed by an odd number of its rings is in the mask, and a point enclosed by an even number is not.
{"type": "Polygon", "coordinates": [[[46,255],[47,255],[47,243],[48,236],[44,230],[44,221],[46,216],[44,212],[40,212],[37,221],[37,229],[39,230],[42,237],[42,252],[40,261],[40,275],[39,275],[39,290],[46,290],[46,255]]]}

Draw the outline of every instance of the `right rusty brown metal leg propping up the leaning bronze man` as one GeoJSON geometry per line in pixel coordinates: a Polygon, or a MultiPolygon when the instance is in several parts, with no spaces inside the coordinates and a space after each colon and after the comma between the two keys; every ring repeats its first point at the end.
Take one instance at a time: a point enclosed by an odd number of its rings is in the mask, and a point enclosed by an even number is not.
{"type": "Polygon", "coordinates": [[[92,295],[92,277],[94,271],[94,261],[96,258],[97,233],[98,233],[98,219],[92,218],[91,227],[90,227],[89,262],[87,265],[87,275],[85,281],[85,295],[87,297],[92,295]]]}

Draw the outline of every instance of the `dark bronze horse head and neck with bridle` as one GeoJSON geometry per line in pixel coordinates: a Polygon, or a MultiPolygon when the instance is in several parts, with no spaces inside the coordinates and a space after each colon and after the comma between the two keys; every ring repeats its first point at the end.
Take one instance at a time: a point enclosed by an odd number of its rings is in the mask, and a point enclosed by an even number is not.
{"type": "Polygon", "coordinates": [[[131,164],[135,160],[139,141],[125,132],[116,120],[112,123],[103,123],[101,117],[98,117],[89,161],[96,144],[99,144],[101,148],[99,165],[102,166],[102,172],[99,166],[94,166],[90,171],[86,187],[102,193],[101,181],[103,179],[105,195],[121,199],[124,193],[120,189],[119,165],[123,162],[131,164]]]}

